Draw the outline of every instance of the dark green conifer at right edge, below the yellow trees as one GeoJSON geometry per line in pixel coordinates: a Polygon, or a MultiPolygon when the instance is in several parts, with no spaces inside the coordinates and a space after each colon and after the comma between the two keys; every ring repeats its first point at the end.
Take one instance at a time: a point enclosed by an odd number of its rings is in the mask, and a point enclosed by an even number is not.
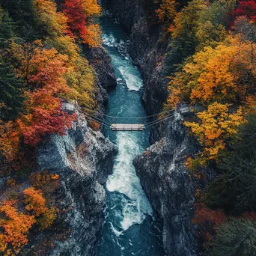
{"type": "Polygon", "coordinates": [[[208,186],[204,202],[233,213],[256,210],[256,115],[240,127],[240,141],[223,159],[221,174],[208,186]]]}

